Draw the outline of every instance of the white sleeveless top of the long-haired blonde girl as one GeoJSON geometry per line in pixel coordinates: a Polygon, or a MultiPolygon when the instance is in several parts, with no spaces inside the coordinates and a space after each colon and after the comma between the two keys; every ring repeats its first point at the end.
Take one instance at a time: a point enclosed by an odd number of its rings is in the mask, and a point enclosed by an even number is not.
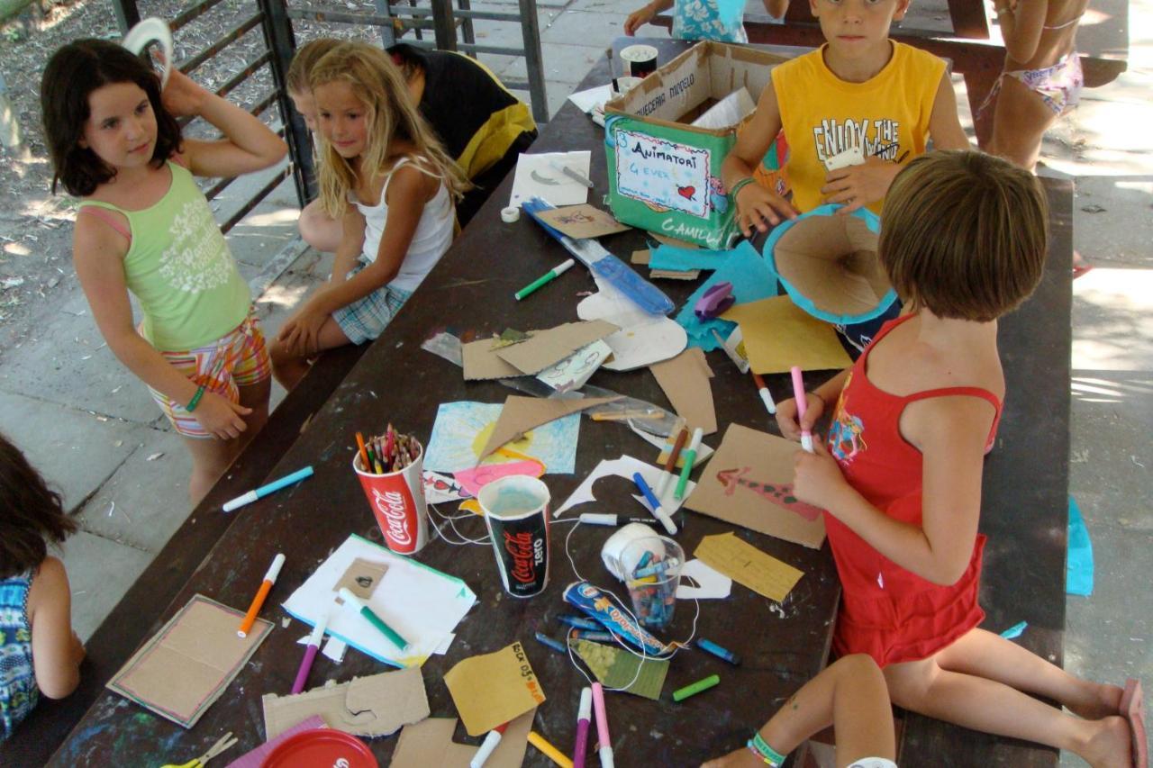
{"type": "Polygon", "coordinates": [[[392,174],[405,165],[412,165],[421,173],[437,179],[440,185],[421,213],[421,220],[413,233],[413,240],[408,244],[408,253],[400,264],[397,277],[389,283],[390,287],[415,291],[424,280],[424,277],[432,271],[436,263],[444,256],[452,244],[453,208],[452,198],[449,196],[449,188],[444,181],[431,171],[422,167],[421,163],[404,157],[389,172],[389,178],[380,190],[380,202],[376,205],[363,205],[353,197],[352,202],[364,216],[364,248],[361,251],[361,261],[371,264],[376,261],[377,251],[380,249],[380,238],[384,235],[384,225],[389,219],[389,204],[385,202],[389,193],[389,182],[392,174]]]}

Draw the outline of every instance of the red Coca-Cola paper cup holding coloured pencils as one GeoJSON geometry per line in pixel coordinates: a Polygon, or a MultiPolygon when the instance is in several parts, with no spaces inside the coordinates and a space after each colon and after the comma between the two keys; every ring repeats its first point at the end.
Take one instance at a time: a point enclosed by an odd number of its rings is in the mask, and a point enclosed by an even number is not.
{"type": "Polygon", "coordinates": [[[429,510],[421,476],[424,446],[416,445],[417,455],[407,467],[383,475],[364,472],[360,452],[353,454],[353,469],[384,534],[384,543],[400,555],[415,555],[429,541],[429,510]]]}

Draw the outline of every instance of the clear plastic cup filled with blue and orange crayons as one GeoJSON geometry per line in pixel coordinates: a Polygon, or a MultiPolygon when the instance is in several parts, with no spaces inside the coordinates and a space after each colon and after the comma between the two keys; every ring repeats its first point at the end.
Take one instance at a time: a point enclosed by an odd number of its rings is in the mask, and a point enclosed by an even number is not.
{"type": "Polygon", "coordinates": [[[680,544],[668,536],[638,539],[625,547],[620,562],[636,619],[647,627],[668,627],[677,608],[677,585],[685,563],[680,544]]]}

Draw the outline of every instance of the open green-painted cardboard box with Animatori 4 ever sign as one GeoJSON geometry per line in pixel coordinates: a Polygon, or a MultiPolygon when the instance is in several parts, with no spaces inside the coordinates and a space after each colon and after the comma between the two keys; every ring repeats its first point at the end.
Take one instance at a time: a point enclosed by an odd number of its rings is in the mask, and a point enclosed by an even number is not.
{"type": "Polygon", "coordinates": [[[706,248],[728,248],[738,228],[721,164],[747,116],[715,128],[689,123],[743,88],[755,103],[783,61],[739,45],[701,43],[605,104],[612,214],[706,248]]]}

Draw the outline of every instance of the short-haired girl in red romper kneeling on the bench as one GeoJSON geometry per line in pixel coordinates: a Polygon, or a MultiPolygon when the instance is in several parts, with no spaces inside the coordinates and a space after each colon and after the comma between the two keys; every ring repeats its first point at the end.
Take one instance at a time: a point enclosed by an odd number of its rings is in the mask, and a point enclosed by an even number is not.
{"type": "Polygon", "coordinates": [[[835,648],[868,654],[905,709],[1147,765],[1140,686],[1083,680],[978,628],[984,454],[1001,417],[996,318],[1040,280],[1047,211],[1035,180],[978,152],[910,163],[886,198],[879,256],[911,311],[777,422],[796,438],[837,406],[828,445],[798,452],[794,492],[826,512],[843,586],[835,648]],[[1027,694],[1053,699],[1072,714],[1027,694]]]}

